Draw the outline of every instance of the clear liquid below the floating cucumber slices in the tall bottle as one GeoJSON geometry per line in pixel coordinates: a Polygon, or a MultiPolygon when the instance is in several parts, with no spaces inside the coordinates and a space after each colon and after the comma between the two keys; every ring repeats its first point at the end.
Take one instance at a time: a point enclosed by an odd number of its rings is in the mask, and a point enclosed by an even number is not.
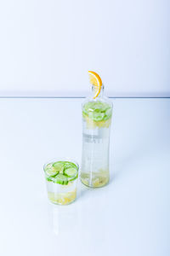
{"type": "Polygon", "coordinates": [[[98,188],[109,182],[110,125],[83,119],[82,133],[82,183],[98,188]]]}

